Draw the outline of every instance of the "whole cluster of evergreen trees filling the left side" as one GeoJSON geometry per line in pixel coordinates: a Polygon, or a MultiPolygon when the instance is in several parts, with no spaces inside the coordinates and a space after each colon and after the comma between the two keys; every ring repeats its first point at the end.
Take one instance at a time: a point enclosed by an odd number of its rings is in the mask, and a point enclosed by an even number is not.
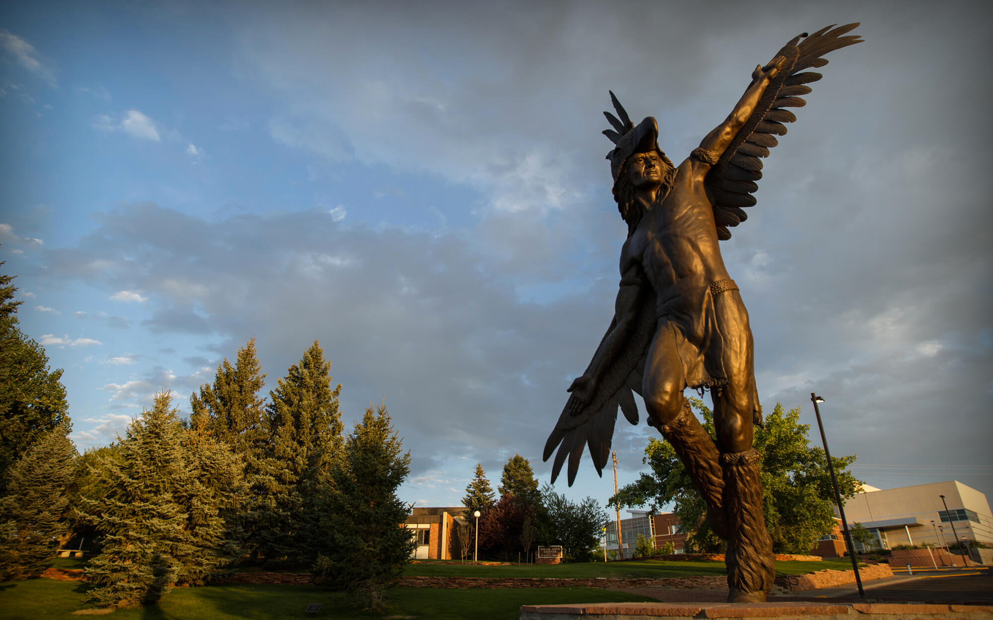
{"type": "Polygon", "coordinates": [[[11,281],[0,276],[0,578],[38,576],[75,537],[95,554],[85,573],[100,606],[249,562],[309,568],[381,607],[414,548],[396,495],[410,453],[384,405],[345,433],[319,342],[267,401],[252,339],[191,395],[189,420],[164,391],[124,436],[78,454],[62,370],[18,328],[11,281]]]}

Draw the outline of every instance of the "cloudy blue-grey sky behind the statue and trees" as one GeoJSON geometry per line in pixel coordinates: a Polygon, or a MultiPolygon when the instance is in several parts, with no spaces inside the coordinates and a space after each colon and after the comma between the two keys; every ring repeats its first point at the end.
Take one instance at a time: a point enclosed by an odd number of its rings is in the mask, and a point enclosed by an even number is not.
{"type": "MultiPolygon", "coordinates": [[[[460,503],[541,449],[610,323],[627,227],[613,90],[677,163],[759,63],[861,22],[722,242],[767,411],[809,395],[880,488],[993,497],[993,183],[980,2],[7,3],[0,260],[64,368],[79,449],[249,338],[277,378],[318,339],[351,428],[384,402],[401,497],[460,503]]],[[[642,409],[643,421],[643,409],[642,409]]],[[[643,422],[614,437],[618,482],[643,422]]],[[[589,455],[555,490],[602,502],[589,455]]]]}

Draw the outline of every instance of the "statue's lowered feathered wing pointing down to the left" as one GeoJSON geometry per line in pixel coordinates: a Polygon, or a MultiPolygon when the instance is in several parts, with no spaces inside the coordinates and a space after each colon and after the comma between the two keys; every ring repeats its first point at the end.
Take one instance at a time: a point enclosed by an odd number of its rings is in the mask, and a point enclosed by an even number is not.
{"type": "MultiPolygon", "coordinates": [[[[638,424],[638,406],[633,392],[639,395],[641,393],[644,362],[655,333],[655,296],[642,297],[644,301],[638,307],[636,327],[615,362],[600,373],[597,388],[590,400],[581,407],[574,407],[578,405],[578,400],[575,396],[570,396],[555,424],[555,429],[548,435],[542,459],[548,460],[558,447],[555,460],[552,462],[552,483],[555,482],[563,463],[568,458],[568,481],[569,486],[572,486],[584,447],[589,447],[593,466],[597,468],[598,474],[603,475],[604,466],[607,465],[611,453],[611,439],[614,436],[614,423],[617,421],[619,408],[628,422],[633,425],[638,424]]],[[[616,320],[611,322],[604,339],[600,342],[601,347],[604,346],[607,335],[614,330],[615,324],[616,320]]],[[[599,352],[600,347],[597,350],[599,352]]],[[[588,367],[586,372],[591,370],[592,368],[588,367]]]]}

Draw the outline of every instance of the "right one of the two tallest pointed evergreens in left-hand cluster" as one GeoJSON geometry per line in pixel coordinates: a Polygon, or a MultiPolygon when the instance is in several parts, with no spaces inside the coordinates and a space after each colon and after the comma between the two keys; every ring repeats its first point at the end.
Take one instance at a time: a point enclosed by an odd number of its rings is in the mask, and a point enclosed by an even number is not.
{"type": "Polygon", "coordinates": [[[256,542],[266,561],[310,564],[323,511],[323,486],[342,449],[339,384],[317,340],[269,393],[265,422],[273,465],[256,542]]]}

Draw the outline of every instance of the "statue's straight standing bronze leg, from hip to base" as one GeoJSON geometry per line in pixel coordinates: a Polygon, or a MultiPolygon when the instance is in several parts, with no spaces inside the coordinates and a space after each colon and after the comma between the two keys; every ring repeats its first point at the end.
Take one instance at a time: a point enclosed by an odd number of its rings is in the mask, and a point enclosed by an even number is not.
{"type": "Polygon", "coordinates": [[[766,600],[776,578],[773,541],[762,510],[759,453],[752,447],[755,410],[752,331],[737,291],[715,299],[724,342],[727,384],[714,394],[714,423],[721,447],[724,508],[728,515],[728,601],[766,600]]]}

